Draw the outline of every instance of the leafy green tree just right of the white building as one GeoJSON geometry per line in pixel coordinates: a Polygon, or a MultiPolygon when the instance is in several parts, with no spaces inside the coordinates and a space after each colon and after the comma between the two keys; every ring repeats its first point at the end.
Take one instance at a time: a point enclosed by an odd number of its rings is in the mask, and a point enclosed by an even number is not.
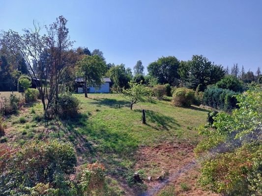
{"type": "Polygon", "coordinates": [[[128,88],[128,82],[132,79],[130,73],[127,73],[124,64],[112,66],[107,75],[113,82],[113,88],[117,92],[121,92],[122,88],[128,88]]]}

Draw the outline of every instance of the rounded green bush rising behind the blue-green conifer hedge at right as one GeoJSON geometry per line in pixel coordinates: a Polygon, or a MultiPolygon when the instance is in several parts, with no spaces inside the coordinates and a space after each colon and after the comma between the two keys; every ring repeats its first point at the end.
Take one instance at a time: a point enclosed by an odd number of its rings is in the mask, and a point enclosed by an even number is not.
{"type": "Polygon", "coordinates": [[[243,92],[244,84],[241,80],[233,75],[226,75],[216,83],[216,86],[221,89],[229,89],[234,92],[243,92]]]}

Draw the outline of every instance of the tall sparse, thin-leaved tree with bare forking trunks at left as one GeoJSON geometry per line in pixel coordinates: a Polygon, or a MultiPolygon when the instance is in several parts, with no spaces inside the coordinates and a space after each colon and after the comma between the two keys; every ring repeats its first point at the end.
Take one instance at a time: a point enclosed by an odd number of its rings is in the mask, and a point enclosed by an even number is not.
{"type": "Polygon", "coordinates": [[[46,26],[47,35],[41,35],[41,27],[34,24],[34,28],[25,29],[23,35],[9,30],[3,32],[0,38],[0,45],[9,53],[16,57],[22,55],[25,59],[28,73],[39,91],[44,110],[58,97],[58,84],[65,75],[65,51],[72,45],[66,23],[67,20],[59,16],[55,23],[46,26]]]}

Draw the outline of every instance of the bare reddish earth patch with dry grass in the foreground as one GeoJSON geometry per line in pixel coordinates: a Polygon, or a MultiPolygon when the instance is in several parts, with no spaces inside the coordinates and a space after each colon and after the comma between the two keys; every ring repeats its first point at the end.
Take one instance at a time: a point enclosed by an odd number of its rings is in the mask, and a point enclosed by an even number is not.
{"type": "Polygon", "coordinates": [[[148,187],[146,196],[155,196],[168,186],[175,186],[176,196],[218,196],[197,187],[197,179],[200,176],[199,166],[194,161],[194,146],[186,143],[166,143],[155,147],[141,147],[138,156],[136,170],[144,169],[146,178],[152,177],[152,181],[144,181],[148,187]],[[161,173],[168,173],[166,181],[158,181],[161,173]],[[188,191],[182,190],[181,183],[188,187],[188,191]]]}

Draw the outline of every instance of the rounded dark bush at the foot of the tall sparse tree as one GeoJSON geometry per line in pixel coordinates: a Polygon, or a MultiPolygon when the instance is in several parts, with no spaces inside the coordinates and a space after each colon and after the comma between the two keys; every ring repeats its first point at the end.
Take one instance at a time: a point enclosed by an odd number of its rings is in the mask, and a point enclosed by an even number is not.
{"type": "Polygon", "coordinates": [[[70,93],[59,95],[51,106],[53,115],[61,118],[74,117],[78,112],[78,108],[79,100],[70,93]]]}

